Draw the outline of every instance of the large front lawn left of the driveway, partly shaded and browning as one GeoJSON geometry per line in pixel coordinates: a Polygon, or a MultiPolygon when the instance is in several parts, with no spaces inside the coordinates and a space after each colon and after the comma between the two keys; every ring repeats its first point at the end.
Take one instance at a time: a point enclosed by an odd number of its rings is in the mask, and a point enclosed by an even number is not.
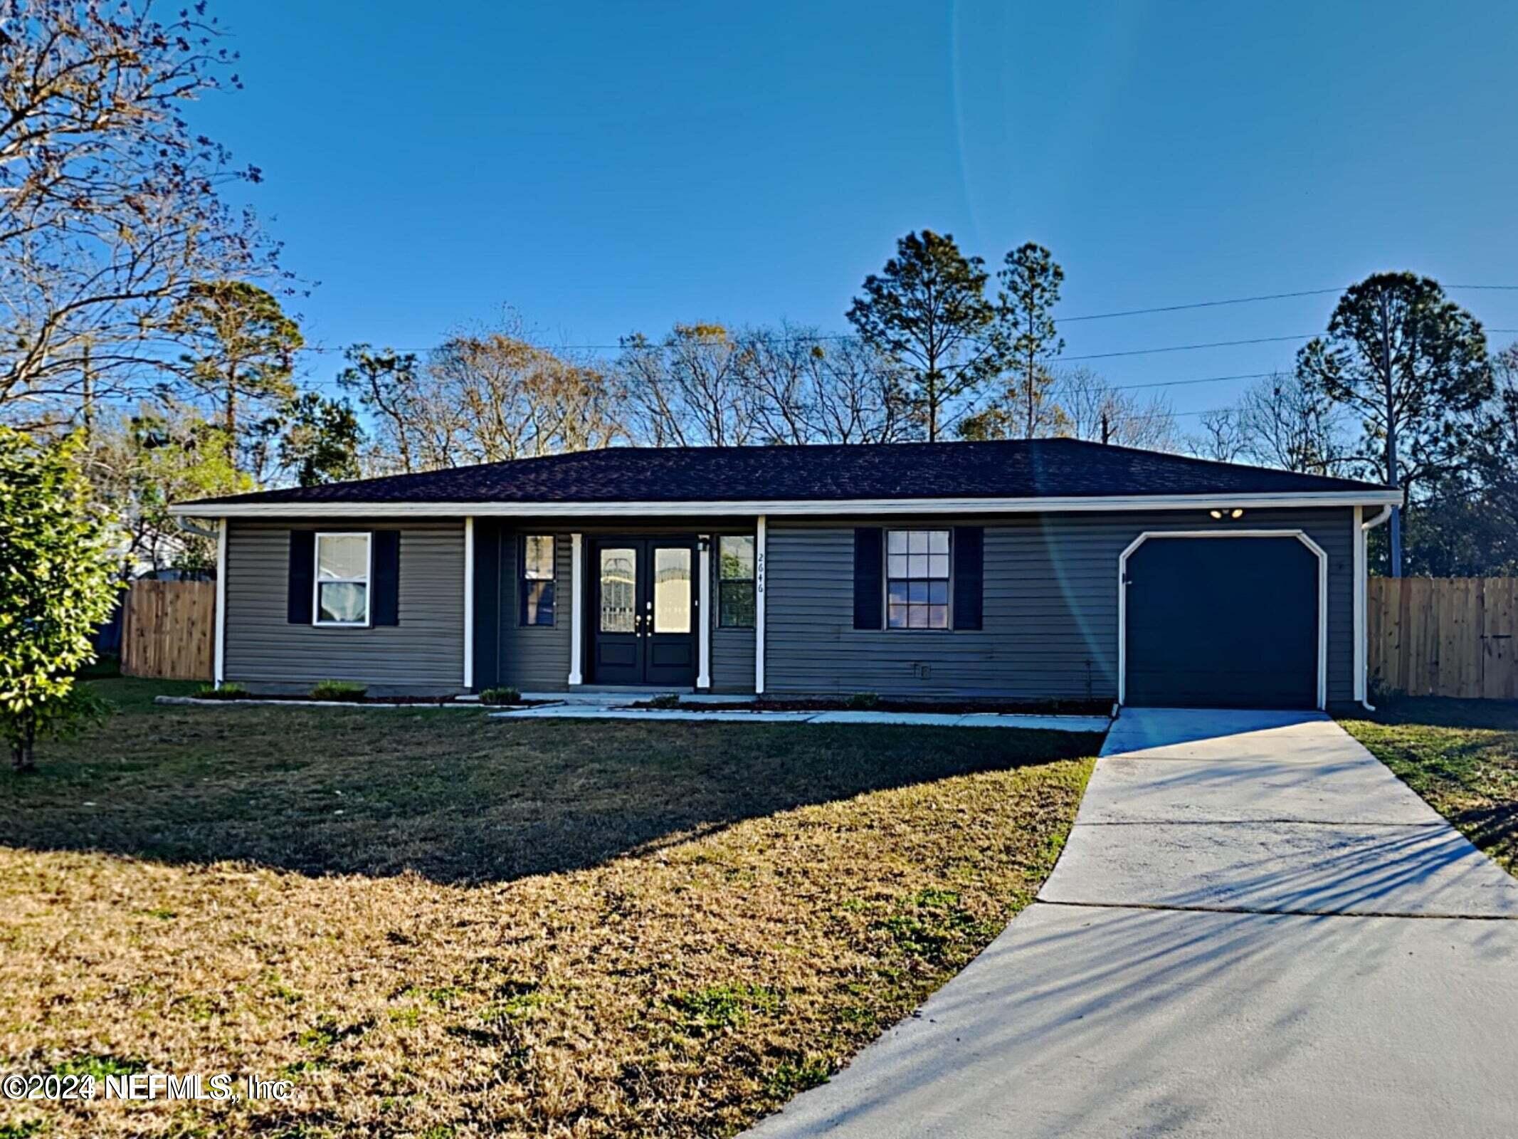
{"type": "MultiPolygon", "coordinates": [[[[137,706],[0,802],[0,1101],[47,1134],[707,1136],[1031,901],[1098,737],[137,706]]],[[[24,1131],[20,1131],[24,1133],[24,1131]]]]}

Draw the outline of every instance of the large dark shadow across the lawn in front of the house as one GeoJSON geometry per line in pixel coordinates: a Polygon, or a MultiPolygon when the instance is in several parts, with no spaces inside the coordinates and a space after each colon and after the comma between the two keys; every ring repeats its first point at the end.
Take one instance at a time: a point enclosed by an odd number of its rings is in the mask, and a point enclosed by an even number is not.
{"type": "Polygon", "coordinates": [[[502,721],[475,711],[121,711],[0,779],[0,844],[301,873],[507,881],[809,803],[1094,755],[1003,729],[502,721]]]}

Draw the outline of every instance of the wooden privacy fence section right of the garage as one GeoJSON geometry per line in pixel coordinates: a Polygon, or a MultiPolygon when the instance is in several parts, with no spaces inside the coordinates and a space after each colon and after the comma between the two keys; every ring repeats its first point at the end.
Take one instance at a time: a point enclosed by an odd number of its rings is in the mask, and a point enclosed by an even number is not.
{"type": "Polygon", "coordinates": [[[1518,700],[1518,577],[1372,577],[1366,639],[1394,693],[1518,700]]]}

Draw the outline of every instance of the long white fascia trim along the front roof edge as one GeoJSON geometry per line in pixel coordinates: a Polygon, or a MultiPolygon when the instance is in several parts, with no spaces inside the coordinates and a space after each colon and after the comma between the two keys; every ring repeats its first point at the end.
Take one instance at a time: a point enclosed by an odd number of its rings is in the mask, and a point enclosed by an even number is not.
{"type": "Polygon", "coordinates": [[[1049,513],[1053,510],[1208,510],[1242,507],[1275,510],[1327,506],[1387,506],[1400,491],[1324,491],[1316,494],[1110,495],[1104,498],[750,498],[730,503],[223,503],[172,506],[178,518],[458,518],[475,515],[533,518],[651,518],[683,515],[975,515],[1049,513]]]}

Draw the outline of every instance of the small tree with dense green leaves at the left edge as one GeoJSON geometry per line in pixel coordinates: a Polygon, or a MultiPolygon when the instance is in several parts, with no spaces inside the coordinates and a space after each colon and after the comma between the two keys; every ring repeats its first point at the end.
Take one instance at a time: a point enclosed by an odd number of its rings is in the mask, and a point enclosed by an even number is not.
{"type": "Polygon", "coordinates": [[[74,673],[118,585],[106,522],[90,506],[79,436],[41,443],[0,427],[0,732],[11,764],[35,764],[38,738],[99,711],[74,673]]]}

